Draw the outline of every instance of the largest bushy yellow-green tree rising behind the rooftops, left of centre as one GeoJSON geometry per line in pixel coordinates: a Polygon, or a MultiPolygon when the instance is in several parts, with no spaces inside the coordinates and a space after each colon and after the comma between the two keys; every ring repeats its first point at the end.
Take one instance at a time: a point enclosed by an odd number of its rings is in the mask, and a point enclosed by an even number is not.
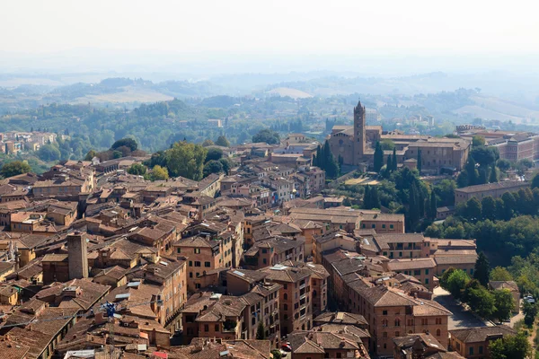
{"type": "Polygon", "coordinates": [[[199,144],[176,142],[166,153],[168,171],[173,177],[202,180],[207,151],[199,144]]]}

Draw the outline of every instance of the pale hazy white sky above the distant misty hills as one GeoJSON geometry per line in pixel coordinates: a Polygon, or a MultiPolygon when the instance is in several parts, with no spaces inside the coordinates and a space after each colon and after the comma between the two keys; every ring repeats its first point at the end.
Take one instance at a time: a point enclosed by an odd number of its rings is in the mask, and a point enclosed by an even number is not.
{"type": "Polygon", "coordinates": [[[539,56],[538,10],[531,0],[3,1],[0,71],[518,69],[539,56]]]}

